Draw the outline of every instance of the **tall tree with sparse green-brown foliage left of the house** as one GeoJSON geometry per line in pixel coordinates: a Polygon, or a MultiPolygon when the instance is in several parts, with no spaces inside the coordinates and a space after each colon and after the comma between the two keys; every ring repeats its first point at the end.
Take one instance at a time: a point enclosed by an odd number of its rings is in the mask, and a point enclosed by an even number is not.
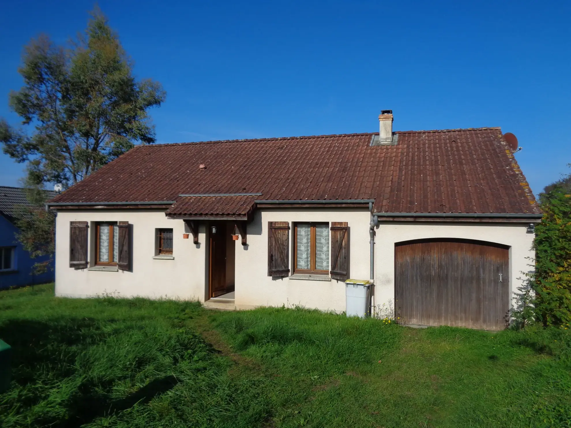
{"type": "MultiPolygon", "coordinates": [[[[52,255],[54,220],[42,211],[40,189],[78,183],[135,143],[154,143],[147,110],[166,93],[158,82],[136,80],[133,64],[107,19],[95,9],[85,34],[69,46],[41,35],[24,47],[19,73],[24,86],[10,93],[10,107],[28,133],[0,118],[2,150],[26,163],[29,200],[23,207],[18,239],[31,255],[52,255]]],[[[37,264],[43,270],[46,263],[37,264]]]]}

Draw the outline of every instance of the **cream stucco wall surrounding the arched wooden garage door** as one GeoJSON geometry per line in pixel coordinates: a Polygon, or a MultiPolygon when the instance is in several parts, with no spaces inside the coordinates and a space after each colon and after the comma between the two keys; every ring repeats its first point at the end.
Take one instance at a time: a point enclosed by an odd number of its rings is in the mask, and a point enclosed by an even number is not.
{"type": "Polygon", "coordinates": [[[375,236],[375,300],[376,308],[395,310],[395,244],[402,241],[431,238],[455,238],[488,241],[509,246],[510,305],[518,287],[525,281],[523,272],[533,269],[534,233],[527,223],[440,223],[379,221],[375,236]]]}

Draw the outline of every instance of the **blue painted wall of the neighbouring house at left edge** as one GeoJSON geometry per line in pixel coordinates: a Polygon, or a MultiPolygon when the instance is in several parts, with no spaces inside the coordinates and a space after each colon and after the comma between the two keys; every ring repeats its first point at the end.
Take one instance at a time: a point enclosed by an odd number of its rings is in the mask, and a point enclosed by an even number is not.
{"type": "Polygon", "coordinates": [[[42,284],[43,282],[53,281],[53,262],[47,272],[41,275],[31,274],[35,263],[47,260],[49,257],[31,259],[29,253],[22,248],[22,245],[16,239],[16,232],[18,232],[18,228],[6,220],[6,217],[0,215],[0,247],[15,247],[15,270],[11,272],[0,270],[0,289],[16,285],[42,284]]]}

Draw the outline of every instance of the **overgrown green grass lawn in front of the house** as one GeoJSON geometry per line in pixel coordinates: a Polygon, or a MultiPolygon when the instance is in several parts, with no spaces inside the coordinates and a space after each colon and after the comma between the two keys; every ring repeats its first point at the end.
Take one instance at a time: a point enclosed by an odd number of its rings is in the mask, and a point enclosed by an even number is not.
{"type": "Polygon", "coordinates": [[[0,426],[571,426],[571,330],[0,292],[0,426]]]}

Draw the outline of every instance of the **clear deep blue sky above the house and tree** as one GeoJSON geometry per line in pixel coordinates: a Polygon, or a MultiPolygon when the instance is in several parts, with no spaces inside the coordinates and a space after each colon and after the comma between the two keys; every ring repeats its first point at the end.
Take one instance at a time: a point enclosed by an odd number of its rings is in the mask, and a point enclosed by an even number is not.
{"type": "MultiPolygon", "coordinates": [[[[0,116],[22,46],[65,43],[91,1],[2,0],[0,116]]],[[[535,193],[571,162],[571,2],[99,1],[135,62],[161,82],[158,142],[500,126],[535,193]]],[[[0,185],[23,165],[0,154],[0,185]]]]}

